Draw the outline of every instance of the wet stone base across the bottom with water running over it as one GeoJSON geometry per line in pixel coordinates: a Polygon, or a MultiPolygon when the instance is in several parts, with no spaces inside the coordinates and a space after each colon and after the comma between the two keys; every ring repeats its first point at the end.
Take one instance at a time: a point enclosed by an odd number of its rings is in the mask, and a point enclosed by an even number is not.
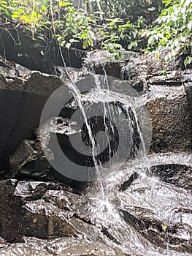
{"type": "Polygon", "coordinates": [[[135,161],[81,195],[58,182],[0,181],[0,254],[190,255],[191,155],[135,161]]]}

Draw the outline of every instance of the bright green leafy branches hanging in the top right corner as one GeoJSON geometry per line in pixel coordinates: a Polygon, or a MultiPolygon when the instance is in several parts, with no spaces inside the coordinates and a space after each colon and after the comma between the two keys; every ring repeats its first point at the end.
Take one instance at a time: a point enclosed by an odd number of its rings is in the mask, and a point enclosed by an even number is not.
{"type": "Polygon", "coordinates": [[[143,31],[148,37],[147,52],[166,48],[166,61],[178,54],[186,56],[185,67],[192,62],[192,2],[191,0],[165,0],[165,8],[155,21],[156,26],[143,31]]]}

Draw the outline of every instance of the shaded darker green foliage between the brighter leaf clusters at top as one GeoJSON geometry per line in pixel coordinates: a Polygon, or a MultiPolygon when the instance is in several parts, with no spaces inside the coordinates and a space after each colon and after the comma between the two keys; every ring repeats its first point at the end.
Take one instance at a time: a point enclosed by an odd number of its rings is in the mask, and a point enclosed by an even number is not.
{"type": "MultiPolygon", "coordinates": [[[[95,0],[90,0],[91,10],[97,10],[95,0]]],[[[90,3],[89,1],[89,3],[90,3]]],[[[115,35],[126,50],[141,50],[145,46],[139,31],[150,26],[162,10],[161,0],[100,0],[105,20],[121,20],[116,24],[115,35]]]]}

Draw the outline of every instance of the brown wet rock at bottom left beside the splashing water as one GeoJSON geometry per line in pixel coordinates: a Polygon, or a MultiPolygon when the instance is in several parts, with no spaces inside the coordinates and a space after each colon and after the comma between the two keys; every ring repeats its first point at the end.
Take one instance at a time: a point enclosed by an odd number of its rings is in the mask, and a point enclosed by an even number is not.
{"type": "Polygon", "coordinates": [[[82,199],[68,187],[51,182],[1,181],[0,223],[5,243],[0,253],[17,255],[21,244],[7,243],[24,239],[21,255],[25,256],[39,253],[39,247],[45,255],[125,255],[117,246],[106,243],[101,228],[90,218],[80,217],[82,199]]]}

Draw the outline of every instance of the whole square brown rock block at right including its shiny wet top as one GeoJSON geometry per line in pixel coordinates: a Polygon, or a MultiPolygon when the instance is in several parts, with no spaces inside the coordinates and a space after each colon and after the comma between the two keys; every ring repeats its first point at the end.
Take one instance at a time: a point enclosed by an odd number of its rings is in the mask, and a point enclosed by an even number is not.
{"type": "Polygon", "coordinates": [[[169,72],[149,79],[147,108],[153,126],[151,150],[191,151],[191,108],[186,85],[188,72],[169,72]],[[183,132],[185,131],[185,132],[183,132]]]}

